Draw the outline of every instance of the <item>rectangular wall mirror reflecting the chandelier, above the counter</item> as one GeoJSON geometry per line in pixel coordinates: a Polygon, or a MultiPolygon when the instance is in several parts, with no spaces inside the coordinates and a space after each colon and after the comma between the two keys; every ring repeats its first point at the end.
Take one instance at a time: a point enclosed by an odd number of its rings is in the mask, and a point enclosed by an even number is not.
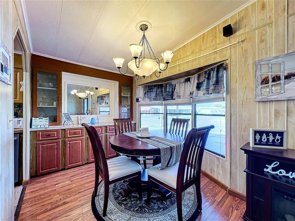
{"type": "Polygon", "coordinates": [[[67,112],[70,115],[110,115],[110,89],[67,84],[67,112]]]}

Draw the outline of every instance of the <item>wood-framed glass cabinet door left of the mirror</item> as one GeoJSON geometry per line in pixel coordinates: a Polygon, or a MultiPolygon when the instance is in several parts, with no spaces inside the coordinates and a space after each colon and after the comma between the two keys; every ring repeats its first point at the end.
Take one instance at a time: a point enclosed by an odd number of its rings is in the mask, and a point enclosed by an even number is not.
{"type": "Polygon", "coordinates": [[[60,73],[36,70],[34,75],[34,117],[49,117],[49,125],[60,125],[60,73]]]}

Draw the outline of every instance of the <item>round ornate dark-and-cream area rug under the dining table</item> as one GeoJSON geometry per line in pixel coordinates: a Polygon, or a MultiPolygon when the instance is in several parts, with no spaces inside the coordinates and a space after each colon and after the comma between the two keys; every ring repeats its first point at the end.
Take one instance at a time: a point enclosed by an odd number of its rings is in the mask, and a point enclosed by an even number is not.
{"type": "MultiPolygon", "coordinates": [[[[143,192],[143,200],[139,200],[137,192],[123,198],[120,190],[128,182],[119,182],[110,186],[107,215],[102,217],[104,200],[104,182],[100,181],[97,197],[92,195],[92,212],[99,221],[177,221],[176,195],[165,200],[153,192],[150,205],[145,204],[147,193],[143,192]]],[[[182,195],[183,220],[195,221],[198,215],[195,185],[182,195]]]]}

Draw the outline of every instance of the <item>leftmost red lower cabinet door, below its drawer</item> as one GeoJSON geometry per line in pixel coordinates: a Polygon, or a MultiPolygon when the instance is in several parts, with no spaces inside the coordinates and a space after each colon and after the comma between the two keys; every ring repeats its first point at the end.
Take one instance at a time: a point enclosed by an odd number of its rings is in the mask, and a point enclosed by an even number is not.
{"type": "Polygon", "coordinates": [[[37,142],[37,175],[61,169],[61,140],[37,142]]]}

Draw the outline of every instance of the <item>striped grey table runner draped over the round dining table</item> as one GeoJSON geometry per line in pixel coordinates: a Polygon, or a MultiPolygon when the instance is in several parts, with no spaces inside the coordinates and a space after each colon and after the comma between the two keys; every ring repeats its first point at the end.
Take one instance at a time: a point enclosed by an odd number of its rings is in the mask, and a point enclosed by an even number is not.
{"type": "Polygon", "coordinates": [[[161,165],[158,166],[159,169],[164,169],[167,166],[172,166],[180,161],[181,151],[183,148],[183,144],[180,142],[168,140],[157,136],[151,138],[139,138],[136,136],[136,134],[140,134],[140,132],[138,131],[128,132],[124,134],[160,148],[161,165]]]}

